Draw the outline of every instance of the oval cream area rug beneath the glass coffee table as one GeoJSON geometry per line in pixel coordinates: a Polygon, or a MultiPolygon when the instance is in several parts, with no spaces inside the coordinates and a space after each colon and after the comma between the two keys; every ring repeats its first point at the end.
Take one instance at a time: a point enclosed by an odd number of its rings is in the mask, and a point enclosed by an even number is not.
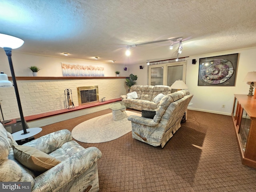
{"type": "MultiPolygon", "coordinates": [[[[128,116],[140,113],[126,111],[128,116]]],[[[84,143],[102,143],[117,139],[132,131],[132,123],[127,118],[114,121],[112,113],[98,116],[75,126],[71,132],[72,137],[84,143]]]]}

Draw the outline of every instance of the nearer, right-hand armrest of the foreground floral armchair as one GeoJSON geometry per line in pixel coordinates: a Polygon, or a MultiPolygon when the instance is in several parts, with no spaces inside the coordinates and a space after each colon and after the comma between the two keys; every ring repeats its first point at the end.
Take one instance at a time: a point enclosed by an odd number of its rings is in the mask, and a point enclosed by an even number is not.
{"type": "MultiPolygon", "coordinates": [[[[102,153],[96,147],[86,148],[50,170],[42,173],[34,179],[33,192],[48,192],[58,190],[71,180],[79,179],[81,174],[86,173],[101,158],[102,153]]],[[[86,175],[90,176],[90,172],[86,175]]]]}

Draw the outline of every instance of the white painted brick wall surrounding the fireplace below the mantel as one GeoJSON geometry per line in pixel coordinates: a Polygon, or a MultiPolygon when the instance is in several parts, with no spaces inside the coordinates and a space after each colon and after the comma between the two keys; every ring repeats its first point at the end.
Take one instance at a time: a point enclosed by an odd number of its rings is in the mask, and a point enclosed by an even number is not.
{"type": "MultiPolygon", "coordinates": [[[[66,108],[64,90],[72,90],[75,106],[78,106],[76,87],[98,86],[99,99],[120,98],[126,94],[128,87],[125,79],[91,79],[91,80],[18,80],[18,91],[24,116],[41,114],[66,108]]],[[[0,100],[4,119],[19,118],[19,110],[14,88],[1,88],[0,100]]],[[[68,109],[67,109],[68,110],[68,109]]],[[[92,110],[92,112],[95,112],[92,110]]],[[[86,112],[87,114],[90,112],[86,112]]],[[[2,117],[1,117],[2,118],[2,117]]]]}

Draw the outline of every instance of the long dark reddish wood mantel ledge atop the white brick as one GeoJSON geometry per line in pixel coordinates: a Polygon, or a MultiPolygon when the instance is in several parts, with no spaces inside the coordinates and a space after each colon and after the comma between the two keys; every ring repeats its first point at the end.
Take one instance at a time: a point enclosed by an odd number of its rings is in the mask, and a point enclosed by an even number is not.
{"type": "MultiPolygon", "coordinates": [[[[127,77],[16,77],[16,80],[125,79],[127,77]]],[[[12,80],[12,77],[8,77],[12,80]]]]}

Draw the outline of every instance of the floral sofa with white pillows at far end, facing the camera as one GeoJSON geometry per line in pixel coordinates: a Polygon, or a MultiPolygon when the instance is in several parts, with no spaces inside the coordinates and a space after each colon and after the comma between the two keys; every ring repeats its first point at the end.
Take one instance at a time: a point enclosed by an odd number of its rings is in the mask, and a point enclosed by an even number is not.
{"type": "Polygon", "coordinates": [[[136,92],[137,98],[127,98],[127,95],[121,95],[122,101],[134,106],[129,107],[136,110],[156,110],[161,98],[171,93],[171,88],[165,85],[133,85],[129,93],[136,92]]]}

